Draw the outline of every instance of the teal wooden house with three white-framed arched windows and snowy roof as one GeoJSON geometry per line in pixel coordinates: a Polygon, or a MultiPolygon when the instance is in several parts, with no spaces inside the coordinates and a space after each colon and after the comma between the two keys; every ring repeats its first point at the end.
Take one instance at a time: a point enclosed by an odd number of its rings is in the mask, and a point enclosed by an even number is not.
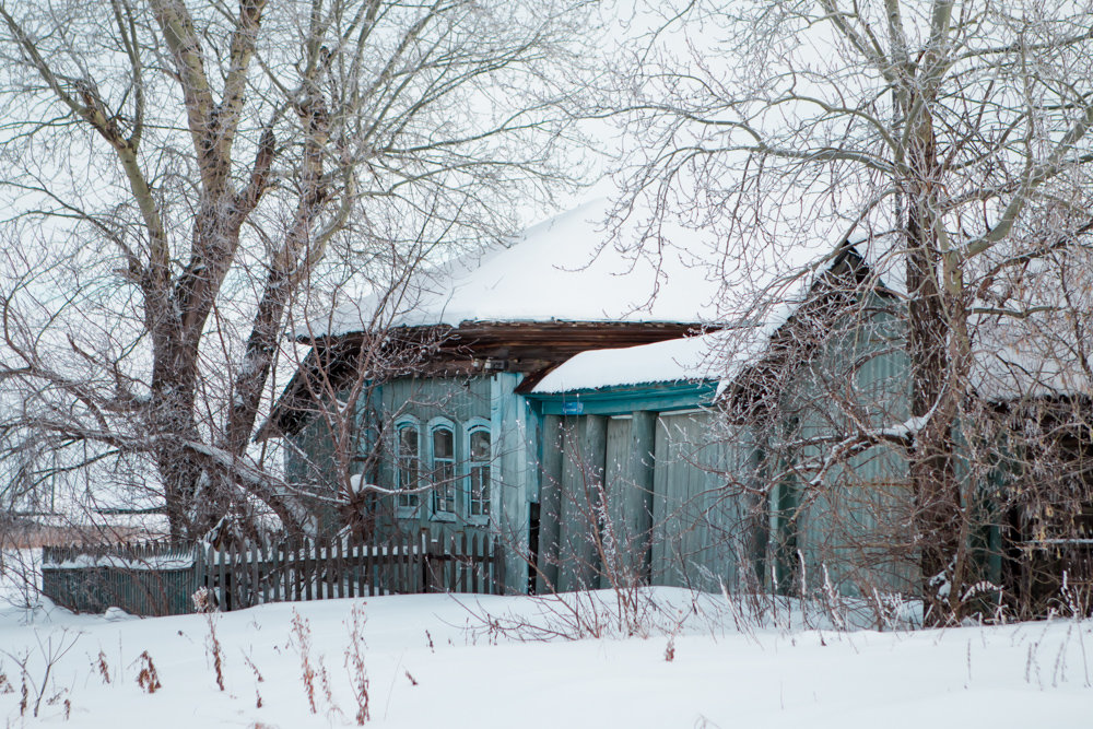
{"type": "Polygon", "coordinates": [[[695,330],[717,291],[685,250],[653,261],[604,247],[602,219],[603,203],[584,205],[507,248],[421,272],[412,291],[385,296],[400,302],[393,309],[377,316],[383,305],[366,301],[301,333],[312,351],[261,437],[284,439],[287,475],[315,494],[320,532],[344,524],[346,507],[380,531],[490,532],[508,545],[509,589],[528,589],[544,447],[531,390],[580,352],[695,330]],[[380,346],[410,350],[413,361],[374,376],[360,362],[380,346]],[[316,400],[362,383],[353,452],[339,458],[336,421],[316,400]],[[361,483],[378,490],[357,498],[361,483]]]}

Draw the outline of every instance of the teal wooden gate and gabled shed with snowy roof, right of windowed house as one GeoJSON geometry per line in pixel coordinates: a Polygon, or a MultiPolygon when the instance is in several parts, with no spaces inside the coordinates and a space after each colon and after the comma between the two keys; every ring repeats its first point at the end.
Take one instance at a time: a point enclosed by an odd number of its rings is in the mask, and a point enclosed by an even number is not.
{"type": "Polygon", "coordinates": [[[858,558],[898,538],[882,533],[909,499],[893,449],[820,469],[807,494],[802,482],[844,437],[847,411],[878,427],[907,420],[896,299],[849,245],[779,295],[765,316],[703,337],[583,353],[531,391],[544,586],[910,590],[898,550],[858,558]]]}

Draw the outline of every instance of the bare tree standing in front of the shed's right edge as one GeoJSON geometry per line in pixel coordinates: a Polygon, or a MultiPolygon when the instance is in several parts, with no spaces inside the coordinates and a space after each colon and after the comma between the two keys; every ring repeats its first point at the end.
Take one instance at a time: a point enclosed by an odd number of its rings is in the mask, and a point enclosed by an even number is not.
{"type": "Polygon", "coordinates": [[[643,140],[623,214],[649,196],[720,223],[732,281],[764,250],[871,240],[902,301],[913,544],[936,620],[959,618],[974,581],[960,431],[979,412],[985,317],[1039,310],[1012,282],[1086,240],[1091,17],[1072,2],[690,2],[656,33],[690,45],[645,51],[646,83],[627,68],[615,89],[639,92],[609,104],[643,140]]]}

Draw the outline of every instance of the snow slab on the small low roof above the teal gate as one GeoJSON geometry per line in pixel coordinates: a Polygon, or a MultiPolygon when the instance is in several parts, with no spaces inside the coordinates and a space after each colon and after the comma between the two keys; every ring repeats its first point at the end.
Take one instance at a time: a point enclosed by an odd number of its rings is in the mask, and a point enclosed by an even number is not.
{"type": "Polygon", "coordinates": [[[553,393],[647,383],[718,379],[729,332],[581,352],[542,378],[532,392],[553,393]]]}

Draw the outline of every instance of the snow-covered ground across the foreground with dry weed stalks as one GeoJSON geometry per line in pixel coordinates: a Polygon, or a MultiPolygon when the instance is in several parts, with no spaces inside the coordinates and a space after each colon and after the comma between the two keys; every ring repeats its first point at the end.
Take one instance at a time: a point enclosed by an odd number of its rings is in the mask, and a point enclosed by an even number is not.
{"type": "MultiPolygon", "coordinates": [[[[519,597],[145,620],[8,604],[0,716],[7,727],[355,726],[355,633],[375,727],[1093,727],[1090,622],[839,633],[799,609],[761,627],[720,597],[646,597],[658,605],[642,621],[649,635],[583,639],[548,636],[571,632],[573,611],[519,597]]],[[[577,614],[602,627],[615,602],[598,599],[577,614]]]]}

